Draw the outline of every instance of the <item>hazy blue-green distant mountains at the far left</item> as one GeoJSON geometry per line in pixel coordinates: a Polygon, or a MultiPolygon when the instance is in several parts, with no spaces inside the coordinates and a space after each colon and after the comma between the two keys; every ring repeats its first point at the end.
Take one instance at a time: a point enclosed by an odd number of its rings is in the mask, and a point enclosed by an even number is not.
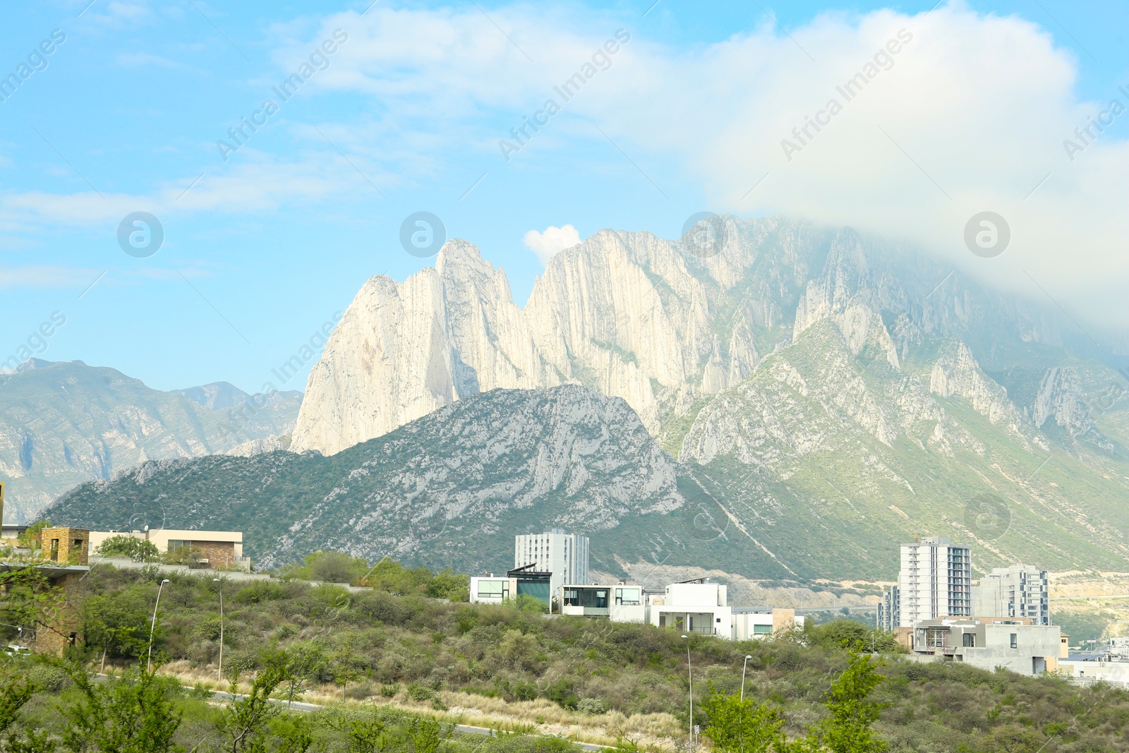
{"type": "Polygon", "coordinates": [[[161,392],[112,368],[30,359],[0,382],[5,522],[34,519],[68,489],[149,459],[288,434],[300,402],[227,383],[161,392]]]}

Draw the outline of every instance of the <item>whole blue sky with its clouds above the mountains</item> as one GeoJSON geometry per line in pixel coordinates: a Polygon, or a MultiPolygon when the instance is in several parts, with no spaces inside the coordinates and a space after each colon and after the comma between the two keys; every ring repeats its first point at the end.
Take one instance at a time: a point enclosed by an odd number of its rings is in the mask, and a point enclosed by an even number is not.
{"type": "Polygon", "coordinates": [[[1074,160],[1061,145],[1129,103],[1127,3],[87,2],[10,8],[0,28],[0,76],[42,68],[0,102],[0,361],[60,312],[41,358],[166,389],[277,384],[368,277],[434,262],[399,240],[418,211],[505,268],[519,304],[543,269],[531,230],[675,237],[701,210],[787,212],[1033,298],[1039,280],[1095,331],[1129,330],[1129,114],[1074,160]],[[621,29],[505,159],[499,140],[621,29]],[[787,159],[790,129],[899,29],[913,41],[867,96],[787,159]],[[310,55],[283,102],[272,87],[310,55]],[[960,247],[980,209],[1013,220],[999,260],[960,247]],[[119,246],[134,211],[164,228],[152,256],[119,246]]]}

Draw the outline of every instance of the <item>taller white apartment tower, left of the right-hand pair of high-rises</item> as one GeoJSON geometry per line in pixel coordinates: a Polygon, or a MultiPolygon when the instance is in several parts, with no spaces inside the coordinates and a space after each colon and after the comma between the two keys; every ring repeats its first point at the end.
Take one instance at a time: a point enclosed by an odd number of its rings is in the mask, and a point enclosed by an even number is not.
{"type": "Polygon", "coordinates": [[[972,616],[972,550],[939,536],[902,544],[898,589],[903,628],[916,628],[922,620],[972,616]]]}

